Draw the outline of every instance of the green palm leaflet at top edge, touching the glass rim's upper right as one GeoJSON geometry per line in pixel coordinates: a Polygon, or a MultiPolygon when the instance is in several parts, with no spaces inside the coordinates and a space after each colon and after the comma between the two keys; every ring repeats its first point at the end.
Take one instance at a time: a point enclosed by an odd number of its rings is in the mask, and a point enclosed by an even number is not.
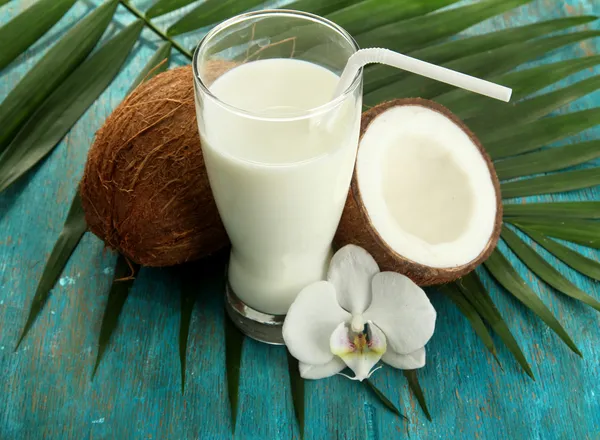
{"type": "Polygon", "coordinates": [[[388,23],[425,15],[458,0],[364,0],[332,12],[327,18],[359,35],[388,23]]]}

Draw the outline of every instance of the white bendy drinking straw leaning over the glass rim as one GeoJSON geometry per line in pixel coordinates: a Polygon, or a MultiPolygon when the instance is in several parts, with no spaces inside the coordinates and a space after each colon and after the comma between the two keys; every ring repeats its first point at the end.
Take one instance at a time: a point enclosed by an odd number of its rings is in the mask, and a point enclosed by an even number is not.
{"type": "Polygon", "coordinates": [[[369,48],[357,51],[348,59],[348,63],[340,77],[340,82],[338,83],[334,98],[340,96],[344,90],[350,86],[356,73],[361,67],[373,63],[387,64],[388,66],[426,76],[427,78],[435,79],[504,102],[508,102],[510,100],[510,95],[512,94],[512,89],[509,89],[508,87],[475,78],[474,76],[465,75],[464,73],[446,69],[445,67],[417,60],[416,58],[411,58],[389,49],[369,48]]]}

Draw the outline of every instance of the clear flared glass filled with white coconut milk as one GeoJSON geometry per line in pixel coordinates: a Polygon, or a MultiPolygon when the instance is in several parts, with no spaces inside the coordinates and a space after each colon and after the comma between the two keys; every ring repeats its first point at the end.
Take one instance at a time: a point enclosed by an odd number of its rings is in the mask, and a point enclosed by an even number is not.
{"type": "Polygon", "coordinates": [[[265,10],[217,26],[193,69],[198,129],[231,240],[227,310],[282,343],[296,295],[324,279],[358,145],[362,71],[332,99],[358,50],[334,23],[265,10]]]}

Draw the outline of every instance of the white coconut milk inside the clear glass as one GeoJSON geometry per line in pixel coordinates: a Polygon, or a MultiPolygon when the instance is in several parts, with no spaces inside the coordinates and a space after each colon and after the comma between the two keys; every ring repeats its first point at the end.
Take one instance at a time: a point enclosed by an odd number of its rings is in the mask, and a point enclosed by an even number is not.
{"type": "Polygon", "coordinates": [[[338,80],[306,61],[253,61],[218,78],[209,90],[221,102],[207,98],[199,113],[232,242],[229,283],[256,310],[285,314],[302,288],[325,277],[361,109],[360,94],[332,107],[338,80]]]}

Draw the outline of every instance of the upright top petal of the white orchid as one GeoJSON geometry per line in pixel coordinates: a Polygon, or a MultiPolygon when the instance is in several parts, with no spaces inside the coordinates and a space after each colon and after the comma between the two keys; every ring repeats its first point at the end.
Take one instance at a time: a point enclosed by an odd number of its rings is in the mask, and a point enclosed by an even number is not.
{"type": "Polygon", "coordinates": [[[349,244],[331,259],[327,280],[335,286],[340,305],[357,315],[371,303],[371,279],[378,272],[379,266],[367,251],[349,244]]]}

